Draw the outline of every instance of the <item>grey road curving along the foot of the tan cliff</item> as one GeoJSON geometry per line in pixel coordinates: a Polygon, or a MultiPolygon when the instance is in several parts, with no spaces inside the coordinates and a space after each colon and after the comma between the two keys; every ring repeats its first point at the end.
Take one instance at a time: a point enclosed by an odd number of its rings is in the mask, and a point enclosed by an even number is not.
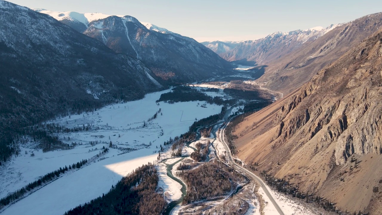
{"type": "Polygon", "coordinates": [[[285,215],[283,210],[281,209],[281,207],[277,204],[277,202],[275,201],[275,199],[273,198],[272,194],[270,194],[269,192],[269,189],[267,188],[267,186],[265,186],[265,182],[259,178],[258,176],[256,176],[255,174],[251,173],[250,171],[248,171],[246,168],[244,168],[243,166],[237,164],[233,159],[232,159],[232,155],[231,155],[231,151],[230,149],[228,148],[228,145],[227,143],[225,142],[224,140],[224,131],[225,131],[225,128],[227,127],[228,123],[230,123],[230,121],[235,118],[234,117],[231,117],[231,119],[222,127],[222,129],[220,130],[220,140],[221,142],[223,143],[224,145],[224,148],[225,150],[227,151],[227,155],[228,155],[228,158],[230,160],[230,162],[235,165],[236,167],[240,168],[241,170],[243,170],[245,173],[247,173],[249,176],[251,176],[253,179],[255,179],[259,184],[260,186],[263,188],[265,194],[268,196],[268,198],[270,199],[270,201],[272,202],[272,204],[275,206],[277,212],[280,214],[280,215],[285,215]]]}

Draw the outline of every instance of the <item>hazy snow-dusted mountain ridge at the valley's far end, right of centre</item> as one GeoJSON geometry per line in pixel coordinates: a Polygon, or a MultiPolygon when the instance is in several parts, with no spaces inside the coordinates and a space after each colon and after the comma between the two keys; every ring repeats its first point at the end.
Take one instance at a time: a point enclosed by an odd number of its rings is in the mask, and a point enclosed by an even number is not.
{"type": "Polygon", "coordinates": [[[290,53],[305,42],[314,41],[340,25],[342,24],[332,24],[327,28],[315,27],[290,32],[279,31],[262,39],[238,42],[231,49],[232,43],[227,42],[218,41],[204,44],[228,61],[247,60],[266,64],[281,55],[290,53]],[[223,52],[225,49],[227,51],[223,52]]]}

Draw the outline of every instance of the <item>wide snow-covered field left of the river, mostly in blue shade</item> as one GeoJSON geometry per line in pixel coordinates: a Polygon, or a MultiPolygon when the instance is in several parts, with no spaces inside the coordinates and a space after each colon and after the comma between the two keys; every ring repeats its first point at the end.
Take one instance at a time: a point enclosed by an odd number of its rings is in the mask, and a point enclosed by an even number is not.
{"type": "MultiPolygon", "coordinates": [[[[221,111],[221,106],[207,104],[207,108],[201,108],[197,106],[198,102],[160,102],[157,105],[155,101],[165,92],[167,91],[147,94],[139,101],[114,104],[89,114],[72,115],[48,122],[68,128],[89,124],[91,130],[58,133],[65,143],[82,144],[71,150],[42,153],[23,148],[28,153],[34,151],[35,156],[22,153],[0,167],[0,172],[5,173],[0,175],[0,183],[5,184],[0,188],[1,196],[60,167],[91,158],[99,153],[95,148],[108,147],[110,141],[113,148],[102,157],[104,160],[97,160],[78,171],[63,175],[6,208],[2,214],[63,214],[79,204],[89,202],[108,192],[122,176],[138,166],[157,160],[160,145],[163,146],[163,142],[170,137],[185,133],[195,118],[202,119],[221,111]],[[157,119],[147,122],[159,108],[163,115],[159,113],[157,119]],[[145,127],[143,121],[146,121],[145,127]],[[102,135],[103,138],[93,135],[102,135]],[[97,145],[91,146],[89,143],[96,141],[97,145]],[[123,153],[126,152],[126,148],[132,148],[134,151],[123,153]]],[[[173,196],[176,199],[175,195],[177,194],[174,192],[173,196]]]]}

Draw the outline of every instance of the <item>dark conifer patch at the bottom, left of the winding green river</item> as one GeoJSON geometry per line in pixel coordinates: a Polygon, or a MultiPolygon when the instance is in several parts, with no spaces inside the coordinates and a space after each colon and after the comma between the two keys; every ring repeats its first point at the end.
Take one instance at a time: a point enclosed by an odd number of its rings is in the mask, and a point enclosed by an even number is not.
{"type": "Polygon", "coordinates": [[[163,195],[155,192],[158,180],[154,165],[143,165],[123,177],[107,194],[79,205],[65,215],[160,215],[167,202],[163,195]]]}

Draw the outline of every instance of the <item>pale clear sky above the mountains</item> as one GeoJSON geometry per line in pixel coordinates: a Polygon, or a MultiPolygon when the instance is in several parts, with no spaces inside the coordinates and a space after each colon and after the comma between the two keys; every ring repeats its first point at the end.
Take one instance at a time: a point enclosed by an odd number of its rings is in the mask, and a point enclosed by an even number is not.
{"type": "Polygon", "coordinates": [[[199,42],[344,23],[382,12],[381,0],[10,0],[29,8],[130,15],[199,42]]]}

